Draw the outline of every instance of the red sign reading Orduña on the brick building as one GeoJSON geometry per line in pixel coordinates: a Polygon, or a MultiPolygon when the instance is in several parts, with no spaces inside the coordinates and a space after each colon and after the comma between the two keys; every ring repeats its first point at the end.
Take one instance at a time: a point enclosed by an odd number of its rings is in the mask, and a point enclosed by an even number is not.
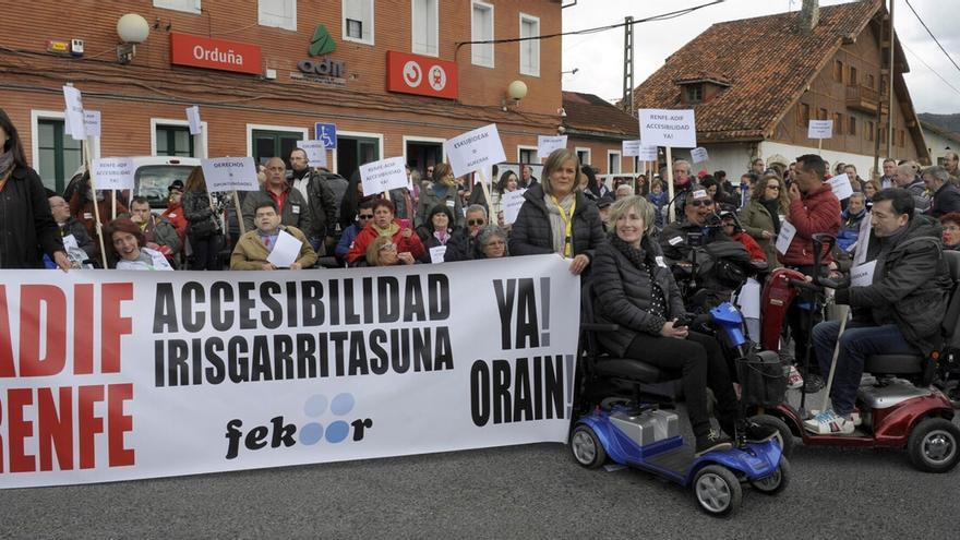
{"type": "Polygon", "coordinates": [[[263,68],[257,45],[188,34],[170,34],[170,63],[253,75],[259,75],[263,68]]]}

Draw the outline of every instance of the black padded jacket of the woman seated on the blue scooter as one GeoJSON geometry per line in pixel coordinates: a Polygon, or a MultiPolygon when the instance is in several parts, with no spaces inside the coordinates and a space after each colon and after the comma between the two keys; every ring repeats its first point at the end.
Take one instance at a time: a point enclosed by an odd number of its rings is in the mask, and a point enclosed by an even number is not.
{"type": "MultiPolygon", "coordinates": [[[[661,256],[657,242],[644,238],[641,247],[652,267],[653,280],[663,291],[668,316],[673,320],[684,312],[683,298],[673,280],[673,274],[664,264],[657,262],[657,257],[661,256]]],[[[592,279],[598,284],[593,289],[597,293],[593,315],[598,323],[614,323],[621,327],[619,332],[599,333],[597,337],[600,345],[610,353],[622,357],[637,334],[659,336],[667,320],[647,311],[650,309],[652,288],[647,272],[637,268],[610,242],[597,248],[591,266],[592,279]]]]}

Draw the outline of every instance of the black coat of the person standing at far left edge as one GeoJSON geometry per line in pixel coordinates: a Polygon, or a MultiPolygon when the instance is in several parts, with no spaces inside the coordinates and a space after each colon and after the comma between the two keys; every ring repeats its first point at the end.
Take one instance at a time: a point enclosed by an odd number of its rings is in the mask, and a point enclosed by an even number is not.
{"type": "Polygon", "coordinates": [[[63,251],[63,240],[40,177],[14,166],[0,191],[0,268],[43,268],[44,253],[63,251]]]}

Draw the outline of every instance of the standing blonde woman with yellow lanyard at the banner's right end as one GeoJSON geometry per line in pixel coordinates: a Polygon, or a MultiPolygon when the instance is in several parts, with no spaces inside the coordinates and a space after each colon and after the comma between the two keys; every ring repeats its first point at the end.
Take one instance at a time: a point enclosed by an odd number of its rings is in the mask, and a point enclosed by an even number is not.
{"type": "Polygon", "coordinates": [[[550,154],[541,181],[524,193],[525,202],[511,232],[511,254],[557,253],[571,260],[571,273],[587,269],[593,250],[605,240],[600,211],[576,190],[579,169],[577,155],[568,149],[550,154]]]}

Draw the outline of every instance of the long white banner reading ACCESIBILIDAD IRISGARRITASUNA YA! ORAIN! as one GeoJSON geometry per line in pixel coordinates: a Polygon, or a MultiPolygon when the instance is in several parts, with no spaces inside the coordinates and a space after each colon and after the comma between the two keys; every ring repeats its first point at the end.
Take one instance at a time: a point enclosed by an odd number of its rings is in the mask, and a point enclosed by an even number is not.
{"type": "Polygon", "coordinates": [[[567,266],[3,271],[0,488],[564,442],[567,266]]]}

